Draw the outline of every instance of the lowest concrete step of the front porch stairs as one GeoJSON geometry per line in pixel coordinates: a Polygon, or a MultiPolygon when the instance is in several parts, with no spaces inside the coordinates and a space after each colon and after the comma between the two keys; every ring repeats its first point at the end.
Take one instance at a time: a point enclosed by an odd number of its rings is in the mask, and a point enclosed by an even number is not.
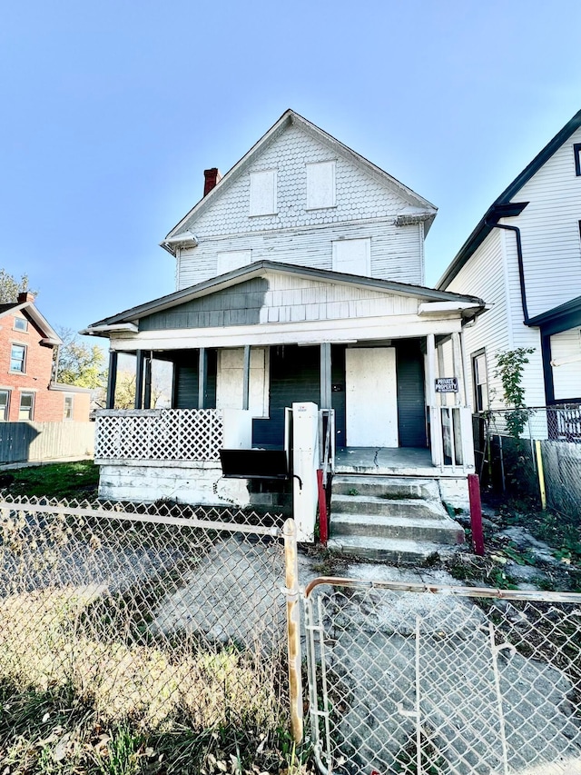
{"type": "Polygon", "coordinates": [[[452,546],[444,546],[441,543],[368,538],[357,535],[330,538],[327,546],[330,551],[340,554],[361,557],[365,560],[391,562],[396,565],[415,565],[427,560],[430,555],[435,553],[438,553],[440,557],[447,557],[454,552],[452,546]]]}

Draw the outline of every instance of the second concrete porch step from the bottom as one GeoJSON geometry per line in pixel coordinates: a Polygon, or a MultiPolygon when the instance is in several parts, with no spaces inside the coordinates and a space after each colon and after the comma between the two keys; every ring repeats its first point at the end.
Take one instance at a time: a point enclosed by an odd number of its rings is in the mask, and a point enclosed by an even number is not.
{"type": "Polygon", "coordinates": [[[405,519],[375,514],[336,514],[330,522],[333,539],[365,536],[369,539],[401,539],[455,545],[464,542],[464,531],[448,517],[440,519],[405,519]]]}

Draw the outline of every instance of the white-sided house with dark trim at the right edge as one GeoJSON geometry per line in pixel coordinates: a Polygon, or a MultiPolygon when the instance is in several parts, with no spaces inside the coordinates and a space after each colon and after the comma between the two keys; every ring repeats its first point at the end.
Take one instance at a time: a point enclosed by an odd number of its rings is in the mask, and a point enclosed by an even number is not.
{"type": "Polygon", "coordinates": [[[534,348],[528,406],[581,402],[581,111],[490,205],[438,283],[477,293],[464,332],[468,401],[502,409],[496,355],[534,348]]]}

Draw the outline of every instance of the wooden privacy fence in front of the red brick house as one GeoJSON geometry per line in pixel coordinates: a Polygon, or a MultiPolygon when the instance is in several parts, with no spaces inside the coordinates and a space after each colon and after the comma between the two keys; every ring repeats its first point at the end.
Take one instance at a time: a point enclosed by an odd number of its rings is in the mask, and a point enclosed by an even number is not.
{"type": "Polygon", "coordinates": [[[94,452],[94,422],[2,422],[0,464],[85,457],[94,452]]]}

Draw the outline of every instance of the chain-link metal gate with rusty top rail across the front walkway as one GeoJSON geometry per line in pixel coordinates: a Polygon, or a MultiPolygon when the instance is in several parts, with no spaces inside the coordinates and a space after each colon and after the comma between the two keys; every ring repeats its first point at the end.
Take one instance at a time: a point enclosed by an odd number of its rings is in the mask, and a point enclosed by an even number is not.
{"type": "Polygon", "coordinates": [[[317,579],[323,773],[581,773],[581,594],[317,579]]]}

